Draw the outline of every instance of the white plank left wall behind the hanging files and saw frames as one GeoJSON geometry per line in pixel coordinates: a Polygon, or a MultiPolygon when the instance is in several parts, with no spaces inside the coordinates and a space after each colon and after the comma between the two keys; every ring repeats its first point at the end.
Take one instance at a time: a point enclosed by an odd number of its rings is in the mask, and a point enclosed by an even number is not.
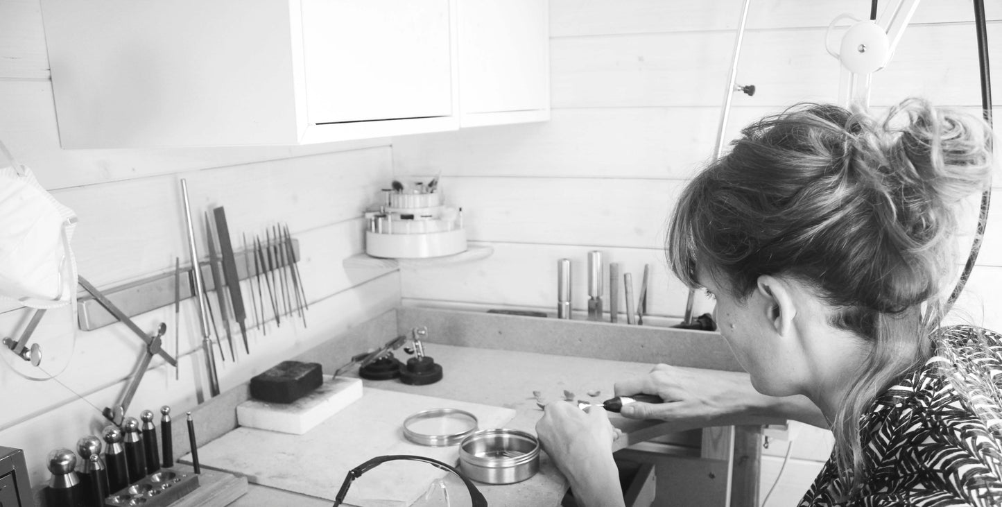
{"type": "MultiPolygon", "coordinates": [[[[175,257],[189,264],[182,177],[196,217],[224,205],[236,241],[241,232],[264,233],[276,222],[288,222],[301,241],[300,269],[310,302],[307,323],[283,321],[279,329],[273,321],[267,336],[252,331],[250,355],[239,352],[233,364],[227,351],[227,362],[219,364],[223,391],[400,303],[397,272],[346,271],[342,266],[364,250],[362,211],[392,178],[389,139],[309,147],[62,150],[39,1],[4,0],[0,140],[77,213],[73,246],[79,273],[98,288],[168,273],[175,257]]],[[[204,257],[201,224],[199,219],[196,230],[204,257]]],[[[249,312],[249,301],[246,305],[249,312]]],[[[168,404],[182,421],[183,412],[201,393],[207,394],[195,307],[189,300],[181,310],[180,380],[174,379],[172,368],[154,360],[130,415],[168,404]]],[[[27,312],[11,304],[0,311],[0,333],[19,335],[27,312]]],[[[99,432],[104,422],[96,409],[117,399],[143,349],[122,325],[85,333],[75,331],[69,319],[66,312],[50,313],[34,335],[43,349],[42,368],[58,373],[58,382],[22,378],[19,373],[45,375],[0,351],[5,360],[0,364],[0,445],[25,450],[33,485],[48,479],[44,460],[49,451],[75,448],[78,438],[99,432]],[[63,365],[65,371],[59,373],[63,365]]],[[[173,319],[168,307],[135,322],[151,333],[166,323],[166,345],[172,352],[178,336],[173,319]]],[[[233,331],[238,337],[235,327],[233,331]]],[[[328,359],[343,362],[357,352],[328,359]]]]}

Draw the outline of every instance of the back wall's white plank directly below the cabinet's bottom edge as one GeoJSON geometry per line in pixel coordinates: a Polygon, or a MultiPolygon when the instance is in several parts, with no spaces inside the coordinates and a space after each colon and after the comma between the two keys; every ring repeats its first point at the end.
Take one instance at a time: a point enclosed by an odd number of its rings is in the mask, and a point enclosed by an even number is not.
{"type": "MultiPolygon", "coordinates": [[[[727,138],[779,110],[735,110],[727,138]]],[[[554,109],[541,123],[395,138],[394,165],[414,174],[687,179],[712,154],[719,120],[719,107],[554,109]]]]}

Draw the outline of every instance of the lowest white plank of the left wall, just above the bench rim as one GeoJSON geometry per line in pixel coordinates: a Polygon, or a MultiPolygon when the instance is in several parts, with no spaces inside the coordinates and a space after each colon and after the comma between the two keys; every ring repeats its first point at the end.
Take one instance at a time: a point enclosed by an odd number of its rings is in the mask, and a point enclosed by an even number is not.
{"type": "MultiPolygon", "coordinates": [[[[225,391],[246,382],[250,376],[275,366],[282,360],[295,357],[330,340],[331,337],[344,334],[376,316],[393,310],[399,304],[400,277],[396,273],[316,301],[311,305],[308,329],[304,329],[302,325],[293,327],[283,324],[281,330],[276,330],[273,326],[273,332],[253,344],[252,355],[242,359],[236,367],[231,363],[220,364],[220,390],[225,391]]],[[[196,326],[194,324],[190,327],[192,332],[196,326]]],[[[344,357],[336,361],[347,361],[357,352],[359,351],[346,350],[344,357]]],[[[124,359],[119,361],[124,363],[124,359]]],[[[93,375],[95,369],[103,371],[106,366],[110,365],[107,362],[94,363],[89,366],[89,371],[93,375]]],[[[147,371],[133,400],[133,408],[130,410],[134,413],[132,415],[142,409],[155,410],[167,404],[173,408],[174,420],[183,420],[183,411],[190,409],[197,401],[195,393],[197,391],[207,393],[207,388],[203,381],[204,359],[200,352],[184,356],[180,366],[182,372],[180,381],[174,380],[173,369],[166,365],[154,366],[147,371]],[[178,414],[181,416],[178,417],[178,414]]],[[[107,377],[103,372],[101,376],[107,377]]],[[[60,380],[72,386],[77,393],[82,393],[82,388],[78,384],[61,378],[60,380]]],[[[44,460],[49,451],[58,447],[75,449],[76,440],[80,436],[97,434],[106,424],[94,408],[80,401],[76,395],[53,381],[42,384],[45,385],[47,396],[60,400],[59,409],[0,431],[0,442],[4,445],[16,444],[18,448],[24,449],[32,484],[44,484],[48,479],[44,460]]],[[[8,384],[6,379],[3,385],[5,391],[19,388],[38,389],[26,387],[23,382],[15,381],[8,384]]],[[[93,406],[103,408],[113,404],[124,387],[124,382],[114,382],[110,386],[88,394],[85,398],[93,406]]]]}

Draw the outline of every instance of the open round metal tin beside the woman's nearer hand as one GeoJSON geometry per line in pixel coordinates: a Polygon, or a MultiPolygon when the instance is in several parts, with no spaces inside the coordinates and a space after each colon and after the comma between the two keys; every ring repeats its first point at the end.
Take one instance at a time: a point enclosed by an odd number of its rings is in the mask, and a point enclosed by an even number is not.
{"type": "Polygon", "coordinates": [[[539,471],[539,440],[518,430],[474,432],[459,444],[459,469],[487,484],[524,481],[539,471]]]}

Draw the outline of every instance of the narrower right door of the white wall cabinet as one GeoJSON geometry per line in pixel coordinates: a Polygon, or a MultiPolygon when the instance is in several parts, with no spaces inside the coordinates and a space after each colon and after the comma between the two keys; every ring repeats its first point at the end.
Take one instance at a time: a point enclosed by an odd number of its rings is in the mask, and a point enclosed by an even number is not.
{"type": "Polygon", "coordinates": [[[549,109],[546,0],[459,2],[462,113],[549,109]]]}

